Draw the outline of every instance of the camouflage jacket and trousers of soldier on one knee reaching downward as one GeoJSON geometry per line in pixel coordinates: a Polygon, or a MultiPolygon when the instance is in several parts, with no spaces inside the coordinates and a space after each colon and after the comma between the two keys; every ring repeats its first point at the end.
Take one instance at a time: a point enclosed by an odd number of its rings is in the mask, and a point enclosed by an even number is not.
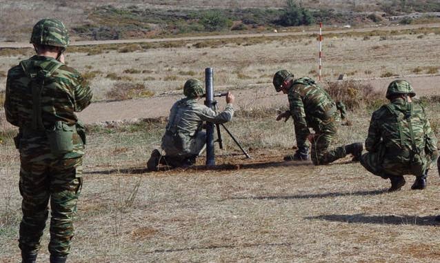
{"type": "Polygon", "coordinates": [[[347,155],[344,146],[329,150],[337,134],[335,120],[339,112],[323,88],[308,77],[295,79],[288,90],[288,99],[298,148],[308,148],[309,128],[315,132],[311,153],[313,164],[328,164],[347,155]]]}

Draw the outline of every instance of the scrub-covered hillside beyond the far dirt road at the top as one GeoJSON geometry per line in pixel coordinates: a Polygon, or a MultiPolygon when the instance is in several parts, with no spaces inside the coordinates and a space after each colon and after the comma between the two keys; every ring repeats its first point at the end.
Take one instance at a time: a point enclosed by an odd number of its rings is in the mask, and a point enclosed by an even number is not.
{"type": "MultiPolygon", "coordinates": [[[[384,23],[384,16],[440,12],[438,0],[303,0],[314,21],[362,25],[384,23]]],[[[126,39],[283,26],[286,0],[0,0],[0,41],[27,41],[43,17],[61,19],[72,39],[126,39]],[[20,19],[17,19],[19,17],[20,19]],[[8,26],[4,26],[8,25],[8,26]]],[[[410,23],[412,21],[406,21],[410,23]]]]}

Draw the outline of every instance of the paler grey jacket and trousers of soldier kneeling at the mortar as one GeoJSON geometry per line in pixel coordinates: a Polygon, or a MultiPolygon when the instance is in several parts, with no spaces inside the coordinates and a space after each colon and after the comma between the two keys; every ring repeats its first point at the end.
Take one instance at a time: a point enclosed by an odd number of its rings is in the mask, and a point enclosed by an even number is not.
{"type": "Polygon", "coordinates": [[[181,99],[171,108],[161,148],[166,156],[177,159],[195,157],[203,150],[206,143],[206,133],[201,130],[203,121],[223,124],[230,121],[232,115],[234,109],[231,104],[227,104],[226,109],[217,114],[211,108],[199,104],[197,99],[181,99]]]}

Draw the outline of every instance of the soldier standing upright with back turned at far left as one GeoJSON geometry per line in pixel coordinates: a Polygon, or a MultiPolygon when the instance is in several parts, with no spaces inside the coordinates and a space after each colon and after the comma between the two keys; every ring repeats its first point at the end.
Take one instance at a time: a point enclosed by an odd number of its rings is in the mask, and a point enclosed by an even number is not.
{"type": "Polygon", "coordinates": [[[50,201],[50,262],[66,262],[86,141],[74,112],[90,104],[92,92],[79,72],[64,64],[69,37],[61,21],[36,23],[30,43],[37,55],[11,68],[6,82],[6,118],[19,127],[14,138],[23,197],[19,247],[22,262],[36,262],[50,201]]]}

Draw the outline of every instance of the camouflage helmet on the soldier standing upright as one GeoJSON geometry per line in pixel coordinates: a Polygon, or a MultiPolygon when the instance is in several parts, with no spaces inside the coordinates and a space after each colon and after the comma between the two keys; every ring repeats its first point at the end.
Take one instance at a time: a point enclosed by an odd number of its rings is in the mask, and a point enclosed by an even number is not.
{"type": "Polygon", "coordinates": [[[63,22],[57,19],[41,19],[32,30],[30,43],[67,48],[70,41],[63,22]]]}

